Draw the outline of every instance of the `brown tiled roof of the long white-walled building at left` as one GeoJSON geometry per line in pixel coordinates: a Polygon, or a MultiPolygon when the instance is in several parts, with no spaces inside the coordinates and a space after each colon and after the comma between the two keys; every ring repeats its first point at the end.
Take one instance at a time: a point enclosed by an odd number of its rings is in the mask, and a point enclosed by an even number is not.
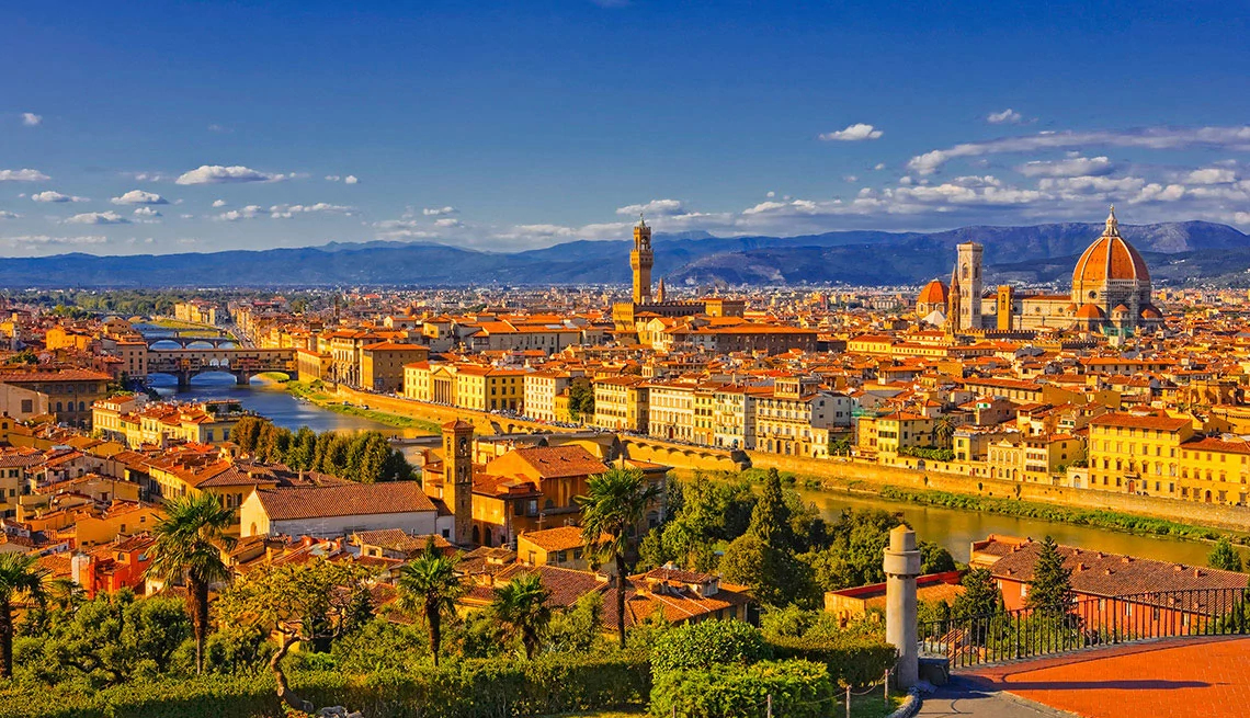
{"type": "Polygon", "coordinates": [[[256,497],[270,521],[435,511],[416,481],[262,488],[256,497]]]}

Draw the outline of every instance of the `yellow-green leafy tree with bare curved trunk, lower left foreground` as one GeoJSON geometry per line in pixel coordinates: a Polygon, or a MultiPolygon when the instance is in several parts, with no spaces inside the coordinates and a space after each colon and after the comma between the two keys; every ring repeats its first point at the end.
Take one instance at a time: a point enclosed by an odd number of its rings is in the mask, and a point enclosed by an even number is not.
{"type": "Polygon", "coordinates": [[[295,643],[332,643],[360,627],[369,616],[369,568],[342,561],[312,558],[304,563],[260,567],[218,599],[218,614],[231,623],[251,624],[279,637],[269,669],[278,698],[298,711],[312,704],[286,681],[282,658],[295,643]]]}

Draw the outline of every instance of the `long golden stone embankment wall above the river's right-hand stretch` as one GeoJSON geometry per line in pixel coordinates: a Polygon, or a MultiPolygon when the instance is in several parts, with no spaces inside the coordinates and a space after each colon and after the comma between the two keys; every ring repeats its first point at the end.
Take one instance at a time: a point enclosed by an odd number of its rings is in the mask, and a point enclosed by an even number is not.
{"type": "Polygon", "coordinates": [[[1239,532],[1250,531],[1250,508],[1242,506],[1191,503],[1170,498],[1112,493],[1090,488],[969,477],[958,473],[881,466],[866,461],[804,458],[761,452],[748,453],[751,458],[751,466],[756,468],[776,468],[778,471],[818,481],[831,479],[830,483],[840,488],[860,488],[876,492],[882,486],[896,486],[922,491],[945,491],[965,496],[1015,498],[1038,503],[1051,503],[1068,508],[1114,511],[1118,513],[1162,518],[1178,523],[1210,526],[1239,532]]]}

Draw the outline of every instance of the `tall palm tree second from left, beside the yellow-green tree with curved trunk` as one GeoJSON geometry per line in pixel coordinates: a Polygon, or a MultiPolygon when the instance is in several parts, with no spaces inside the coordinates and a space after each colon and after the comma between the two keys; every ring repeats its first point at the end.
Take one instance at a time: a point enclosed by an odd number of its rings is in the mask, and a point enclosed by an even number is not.
{"type": "Polygon", "coordinates": [[[195,671],[200,673],[209,633],[209,586],[230,579],[230,568],[221,554],[235,544],[226,536],[234,526],[234,511],[221,506],[211,493],[200,493],[168,502],[165,514],[152,528],[156,542],[148,574],[186,582],[186,603],[195,632],[195,671]]]}

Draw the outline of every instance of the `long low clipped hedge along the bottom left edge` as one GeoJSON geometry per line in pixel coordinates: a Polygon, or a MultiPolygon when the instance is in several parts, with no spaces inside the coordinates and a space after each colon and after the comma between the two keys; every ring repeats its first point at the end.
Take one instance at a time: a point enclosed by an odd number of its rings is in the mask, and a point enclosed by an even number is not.
{"type": "MultiPolygon", "coordinates": [[[[295,692],[324,706],[346,706],[369,718],[520,718],[640,707],[650,692],[640,653],[554,656],[450,662],[422,673],[346,676],[332,671],[290,674],[295,692]]],[[[0,716],[29,718],[281,718],[274,679],[202,676],[129,683],[82,694],[71,691],[0,689],[0,716]]]]}

